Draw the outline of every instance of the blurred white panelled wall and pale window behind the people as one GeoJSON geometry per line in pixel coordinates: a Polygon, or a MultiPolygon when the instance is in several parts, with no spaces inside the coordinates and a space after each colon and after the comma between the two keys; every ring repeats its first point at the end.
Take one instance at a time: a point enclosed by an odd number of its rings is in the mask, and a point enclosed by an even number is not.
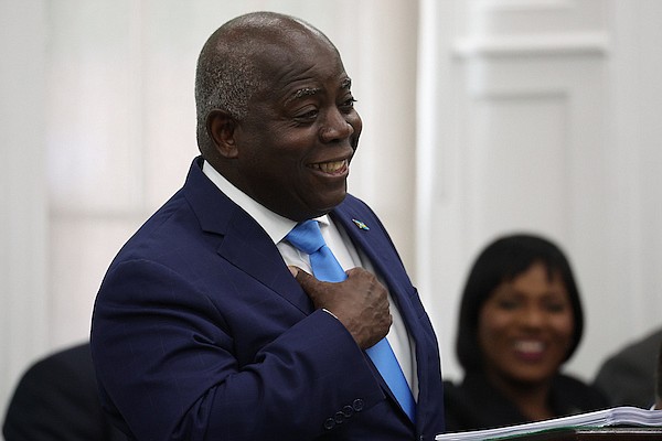
{"type": "Polygon", "coordinates": [[[364,130],[350,191],[389,229],[458,378],[458,300],[494,236],[570,257],[567,370],[662,325],[662,1],[0,0],[0,415],[36,358],[88,337],[134,230],[182,184],[206,37],[244,12],[339,47],[364,130]]]}

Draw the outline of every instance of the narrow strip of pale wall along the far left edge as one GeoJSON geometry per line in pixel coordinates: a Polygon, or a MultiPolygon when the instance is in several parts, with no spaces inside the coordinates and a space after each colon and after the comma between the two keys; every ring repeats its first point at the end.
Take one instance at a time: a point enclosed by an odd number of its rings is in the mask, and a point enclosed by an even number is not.
{"type": "Polygon", "coordinates": [[[0,1],[0,417],[25,363],[47,348],[45,8],[0,1]]]}

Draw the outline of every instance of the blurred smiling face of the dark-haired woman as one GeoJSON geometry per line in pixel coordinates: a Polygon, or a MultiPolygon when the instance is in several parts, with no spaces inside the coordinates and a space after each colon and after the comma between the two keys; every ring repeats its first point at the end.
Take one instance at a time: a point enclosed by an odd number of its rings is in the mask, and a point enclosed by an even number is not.
{"type": "Polygon", "coordinates": [[[478,343],[499,384],[549,380],[573,342],[574,313],[563,279],[541,262],[499,284],[479,313],[478,343]]]}

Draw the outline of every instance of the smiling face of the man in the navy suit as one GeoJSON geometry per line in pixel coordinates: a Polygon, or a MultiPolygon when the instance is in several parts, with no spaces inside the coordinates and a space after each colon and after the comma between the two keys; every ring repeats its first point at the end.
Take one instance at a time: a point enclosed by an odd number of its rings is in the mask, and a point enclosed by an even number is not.
{"type": "Polygon", "coordinates": [[[325,214],[346,195],[362,129],[340,55],[318,35],[292,32],[256,65],[267,86],[234,132],[235,184],[293,220],[325,214]]]}

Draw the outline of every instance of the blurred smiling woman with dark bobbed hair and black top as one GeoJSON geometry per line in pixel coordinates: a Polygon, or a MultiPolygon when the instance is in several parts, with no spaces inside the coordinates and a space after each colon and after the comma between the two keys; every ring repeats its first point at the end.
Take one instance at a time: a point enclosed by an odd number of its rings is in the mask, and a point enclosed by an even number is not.
{"type": "Polygon", "coordinates": [[[461,384],[445,384],[448,431],[537,421],[608,407],[560,373],[584,327],[568,260],[532,235],[496,239],[478,257],[460,305],[461,384]]]}

